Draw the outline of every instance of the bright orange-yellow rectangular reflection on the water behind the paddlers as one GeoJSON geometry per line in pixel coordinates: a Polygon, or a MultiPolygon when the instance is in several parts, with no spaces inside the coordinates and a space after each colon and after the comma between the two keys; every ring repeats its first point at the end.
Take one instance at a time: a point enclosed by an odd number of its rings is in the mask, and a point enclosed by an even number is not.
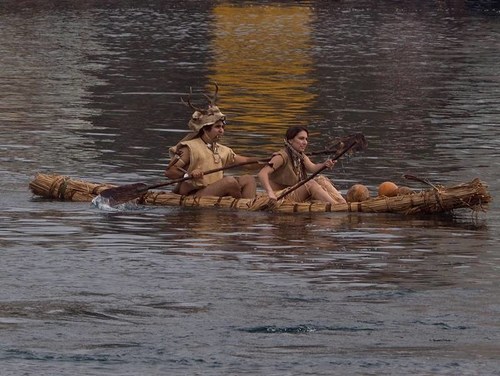
{"type": "Polygon", "coordinates": [[[270,148],[275,148],[288,126],[313,120],[312,11],[304,6],[223,4],[213,13],[209,80],[221,86],[220,107],[234,128],[272,135],[270,148]]]}

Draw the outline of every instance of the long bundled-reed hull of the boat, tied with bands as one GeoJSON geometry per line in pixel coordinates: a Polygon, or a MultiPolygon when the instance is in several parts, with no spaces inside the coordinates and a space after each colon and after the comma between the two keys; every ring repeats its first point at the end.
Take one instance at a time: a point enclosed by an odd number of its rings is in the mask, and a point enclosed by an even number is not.
{"type": "MultiPolygon", "coordinates": [[[[34,195],[66,201],[90,202],[112,184],[98,184],[72,179],[62,175],[39,173],[30,182],[34,195]]],[[[363,202],[335,205],[319,202],[295,203],[280,201],[272,207],[267,196],[256,199],[235,199],[232,197],[181,196],[172,192],[149,191],[139,199],[141,204],[159,206],[220,207],[242,210],[273,210],[285,213],[305,212],[365,212],[399,213],[405,215],[450,212],[459,208],[484,211],[492,198],[487,186],[479,179],[455,186],[438,186],[432,189],[397,197],[376,197],[363,202]]]]}

